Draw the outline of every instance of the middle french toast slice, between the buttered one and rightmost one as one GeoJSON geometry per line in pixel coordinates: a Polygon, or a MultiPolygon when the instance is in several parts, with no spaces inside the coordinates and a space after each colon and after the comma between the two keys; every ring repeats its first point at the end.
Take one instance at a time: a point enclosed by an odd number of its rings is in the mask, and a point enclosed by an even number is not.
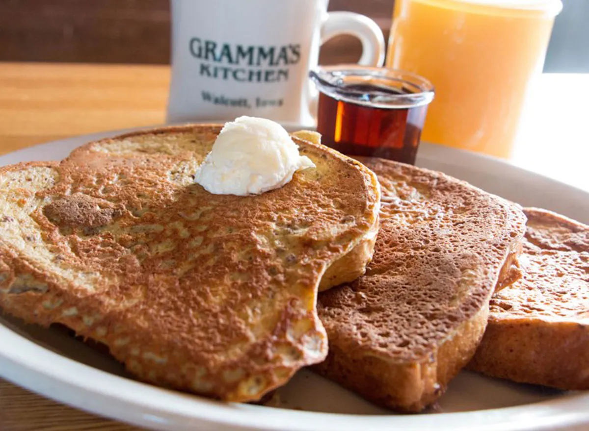
{"type": "Polygon", "coordinates": [[[517,280],[525,216],[445,174],[358,160],[382,188],[375,253],[364,276],[319,294],[329,353],[313,369],[379,405],[419,412],[471,359],[496,286],[517,280]]]}

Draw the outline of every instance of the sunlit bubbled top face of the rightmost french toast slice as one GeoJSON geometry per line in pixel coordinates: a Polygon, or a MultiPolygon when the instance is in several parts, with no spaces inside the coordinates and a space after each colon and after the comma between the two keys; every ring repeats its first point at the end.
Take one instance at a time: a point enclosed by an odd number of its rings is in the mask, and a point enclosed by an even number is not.
{"type": "Polygon", "coordinates": [[[579,319],[589,324],[589,226],[550,211],[524,212],[528,223],[519,258],[524,277],[492,297],[490,319],[579,319]]]}

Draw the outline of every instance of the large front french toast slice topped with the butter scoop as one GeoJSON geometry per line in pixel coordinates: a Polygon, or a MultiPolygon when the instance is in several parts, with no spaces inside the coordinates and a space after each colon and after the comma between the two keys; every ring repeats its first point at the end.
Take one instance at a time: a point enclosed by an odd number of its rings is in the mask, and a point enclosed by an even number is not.
{"type": "Polygon", "coordinates": [[[141,380],[222,400],[259,400],[323,360],[317,289],[350,254],[363,272],[378,181],[293,138],[316,168],[261,195],[210,194],[193,174],[220,128],[135,132],[0,168],[2,309],[104,343],[141,380]]]}

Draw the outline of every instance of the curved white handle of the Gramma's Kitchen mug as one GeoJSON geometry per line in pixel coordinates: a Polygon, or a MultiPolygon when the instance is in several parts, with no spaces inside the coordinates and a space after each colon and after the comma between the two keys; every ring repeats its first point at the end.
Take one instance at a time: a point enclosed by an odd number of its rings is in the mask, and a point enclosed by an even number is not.
{"type": "MultiPolygon", "coordinates": [[[[368,16],[354,12],[329,12],[321,27],[321,44],[323,45],[329,39],[342,34],[355,36],[362,42],[362,56],[358,64],[382,66],[385,61],[385,37],[376,22],[368,16]]],[[[312,87],[313,84],[309,82],[309,85],[312,87]]],[[[313,90],[312,97],[309,98],[309,111],[316,118],[319,94],[313,90]]]]}

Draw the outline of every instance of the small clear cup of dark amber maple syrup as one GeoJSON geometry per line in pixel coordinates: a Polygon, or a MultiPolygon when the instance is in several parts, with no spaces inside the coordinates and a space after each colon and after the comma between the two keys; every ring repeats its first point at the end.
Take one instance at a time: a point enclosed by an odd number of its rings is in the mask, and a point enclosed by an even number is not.
{"type": "Polygon", "coordinates": [[[426,79],[392,69],[319,68],[317,131],[348,155],[414,164],[434,89],[426,79]]]}

